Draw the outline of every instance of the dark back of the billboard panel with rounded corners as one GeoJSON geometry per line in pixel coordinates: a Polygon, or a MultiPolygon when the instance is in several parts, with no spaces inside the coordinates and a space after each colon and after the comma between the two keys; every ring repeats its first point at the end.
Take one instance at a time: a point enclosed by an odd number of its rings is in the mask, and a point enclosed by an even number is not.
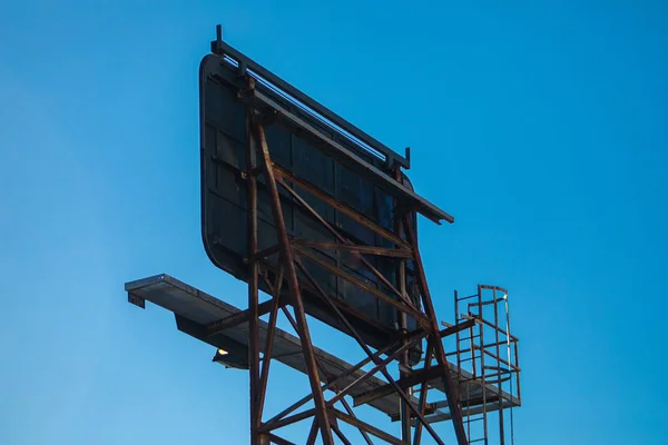
{"type": "MultiPolygon", "coordinates": [[[[269,111],[265,112],[265,116],[278,116],[263,123],[274,166],[289,179],[289,187],[298,190],[324,220],[336,227],[347,239],[364,246],[392,249],[405,243],[394,233],[394,208],[402,202],[387,190],[400,187],[405,189],[405,194],[413,192],[407,178],[403,176],[403,184],[397,186],[399,182],[394,180],[387,167],[390,162],[407,167],[407,159],[386,149],[380,142],[380,148],[373,147],[376,154],[364,149],[357,144],[358,139],[355,142],[356,135],[351,138],[350,134],[345,135],[344,131],[334,129],[305,108],[297,107],[284,92],[263,81],[256,83],[258,95],[264,98],[258,105],[257,97],[250,99],[244,96],[246,76],[249,73],[246,71],[247,60],[242,58],[243,55],[237,53],[237,60],[230,62],[229,59],[210,55],[205,57],[200,65],[202,233],[212,261],[236,278],[248,280],[248,267],[245,263],[248,255],[247,185],[244,174],[247,168],[248,106],[262,106],[265,111],[269,111]],[[314,131],[321,135],[320,139],[313,137],[314,131]],[[323,142],[322,135],[331,138],[331,144],[323,142]],[[330,145],[344,147],[344,150],[350,150],[353,156],[341,158],[332,151],[330,145]],[[363,161],[356,162],[355,159],[363,161]],[[384,233],[384,236],[379,235],[379,230],[384,233]]],[[[254,77],[256,71],[257,69],[253,72],[254,77]]],[[[263,72],[261,79],[266,77],[263,72]]],[[[281,83],[282,90],[285,91],[286,83],[273,78],[272,85],[275,83],[281,83]]],[[[363,140],[376,142],[367,135],[360,134],[363,140]]],[[[376,298],[374,294],[396,299],[395,294],[350,253],[322,248],[323,243],[336,244],[335,236],[286,190],[279,189],[279,192],[288,236],[297,240],[295,246],[310,275],[322,289],[335,297],[341,309],[369,345],[376,348],[386,346],[390,340],[396,338],[400,320],[396,309],[376,298]],[[303,244],[299,245],[299,241],[303,244]],[[314,248],[308,246],[308,243],[320,243],[321,247],[314,248]],[[355,283],[342,278],[337,271],[352,276],[355,283]]],[[[421,212],[428,217],[433,214],[429,202],[421,208],[421,212]],[[429,214],[430,211],[432,214],[429,214]]],[[[263,176],[258,178],[257,212],[257,248],[262,251],[277,243],[263,176]]],[[[416,219],[414,212],[413,218],[416,219]]],[[[392,286],[399,287],[397,258],[374,255],[364,255],[364,258],[381,271],[392,286]]],[[[410,259],[405,263],[406,291],[416,301],[419,295],[413,277],[413,263],[410,259]]],[[[273,277],[277,271],[277,264],[278,255],[273,254],[266,258],[263,268],[273,277]]],[[[305,277],[299,275],[298,278],[304,286],[306,313],[346,332],[336,314],[324,304],[313,288],[310,288],[305,277]]],[[[262,279],[259,288],[264,291],[269,290],[262,279]]],[[[415,320],[409,317],[409,329],[415,326],[415,320]]]]}

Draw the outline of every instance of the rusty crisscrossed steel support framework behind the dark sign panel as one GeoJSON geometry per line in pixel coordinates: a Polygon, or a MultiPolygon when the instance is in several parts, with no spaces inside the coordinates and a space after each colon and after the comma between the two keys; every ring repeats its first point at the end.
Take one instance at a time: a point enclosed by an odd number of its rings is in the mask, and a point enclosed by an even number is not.
{"type": "MultiPolygon", "coordinates": [[[[252,90],[255,88],[255,81],[249,78],[248,79],[248,89],[252,90]]],[[[425,383],[422,385],[422,390],[420,394],[420,403],[415,404],[411,402],[411,387],[404,388],[389,374],[386,366],[392,362],[399,358],[400,364],[403,365],[400,369],[405,369],[407,366],[407,349],[412,347],[418,340],[421,340],[426,336],[428,338],[428,357],[426,362],[430,362],[433,357],[436,358],[439,363],[439,368],[443,369],[442,379],[445,388],[445,394],[448,397],[448,403],[450,406],[450,412],[452,415],[452,421],[454,424],[455,435],[458,438],[459,445],[465,445],[466,435],[464,432],[462,415],[459,406],[459,394],[456,392],[456,387],[450,377],[450,372],[448,367],[448,362],[445,357],[445,352],[443,349],[443,344],[441,342],[441,335],[439,332],[439,327],[436,324],[435,312],[433,308],[433,304],[431,300],[431,296],[429,293],[429,288],[426,286],[426,278],[424,275],[424,269],[422,266],[422,261],[420,258],[420,253],[418,250],[416,237],[414,233],[414,228],[412,227],[412,221],[410,219],[409,214],[403,212],[402,215],[397,215],[395,219],[395,228],[394,231],[397,235],[397,238],[401,240],[401,244],[396,244],[395,249],[379,249],[365,246],[355,246],[344,236],[342,236],[334,227],[332,227],[324,218],[322,218],[317,212],[295,191],[293,188],[286,184],[286,181],[282,178],[282,176],[275,169],[269,148],[267,146],[266,135],[263,128],[263,125],[259,122],[258,117],[255,111],[249,107],[247,110],[247,119],[246,119],[246,149],[247,149],[247,166],[246,166],[246,178],[248,180],[248,196],[247,196],[247,206],[248,206],[248,219],[247,219],[247,229],[248,229],[248,257],[247,264],[249,268],[249,279],[248,279],[248,327],[249,327],[249,340],[248,340],[248,354],[249,354],[249,372],[250,372],[250,433],[252,433],[252,445],[264,445],[268,443],[272,437],[272,431],[282,426],[289,425],[295,422],[299,422],[302,419],[314,416],[312,427],[308,434],[307,443],[315,443],[316,438],[320,436],[322,438],[322,443],[325,445],[334,445],[334,434],[345,444],[350,443],[347,438],[342,434],[336,425],[336,419],[344,421],[360,429],[366,443],[371,443],[367,434],[376,435],[377,437],[385,439],[390,443],[397,443],[402,445],[411,445],[412,439],[414,439],[414,445],[419,445],[421,442],[421,433],[422,427],[424,427],[428,433],[439,444],[443,444],[443,441],[436,435],[436,433],[432,429],[431,425],[426,422],[425,415],[425,405],[426,405],[426,392],[429,389],[429,385],[425,383]],[[258,158],[258,159],[256,159],[258,158]],[[269,289],[272,289],[273,301],[271,305],[263,304],[259,307],[258,303],[258,279],[261,276],[259,264],[263,258],[266,256],[265,251],[258,251],[258,241],[257,241],[257,175],[262,174],[265,178],[266,188],[268,191],[269,204],[272,208],[272,215],[276,227],[277,235],[277,247],[272,247],[271,253],[277,251],[279,254],[279,264],[277,269],[276,283],[272,286],[269,285],[269,289]],[[287,192],[292,196],[294,200],[302,204],[311,214],[313,214],[316,219],[321,224],[323,224],[337,239],[336,247],[341,246],[343,250],[347,250],[351,255],[360,259],[364,266],[366,266],[371,273],[373,273],[381,283],[383,283],[391,291],[395,294],[396,300],[391,299],[387,301],[390,305],[394,306],[400,312],[400,322],[401,328],[404,330],[404,336],[402,340],[402,346],[393,354],[390,354],[386,359],[381,359],[379,353],[372,353],[369,346],[362,340],[357,332],[353,328],[340,308],[336,306],[334,300],[328,296],[316,283],[315,279],[311,276],[311,274],[304,268],[299,256],[304,255],[308,256],[307,250],[304,250],[307,247],[316,247],[312,241],[308,240],[295,240],[291,241],[287,229],[285,225],[285,219],[283,216],[281,196],[278,194],[278,185],[285,187],[287,192]],[[405,234],[405,240],[401,239],[402,233],[405,234]],[[310,245],[311,244],[311,245],[310,245]],[[406,249],[405,246],[410,248],[406,249]],[[395,256],[397,257],[400,267],[396,279],[396,287],[394,287],[371,263],[369,263],[363,255],[386,255],[386,256],[395,256]],[[415,264],[415,275],[416,281],[420,286],[420,293],[422,296],[422,304],[424,307],[424,313],[420,310],[419,307],[414,306],[414,303],[409,298],[406,293],[406,283],[405,283],[405,258],[412,258],[415,264]],[[334,382],[338,378],[332,380],[330,377],[322,373],[320,369],[317,358],[315,356],[315,352],[313,348],[311,334],[307,325],[306,314],[304,309],[304,301],[302,299],[299,283],[297,278],[297,267],[302,270],[303,275],[306,277],[307,281],[313,286],[317,293],[321,295],[323,300],[331,307],[331,309],[338,316],[345,326],[345,330],[360,344],[360,346],[366,353],[369,360],[372,362],[375,366],[372,370],[365,373],[362,377],[357,378],[353,384],[347,385],[345,388],[338,387],[334,382]],[[287,294],[281,295],[282,291],[282,283],[285,280],[287,284],[287,294]],[[285,305],[292,305],[294,308],[294,319],[292,315],[287,312],[285,305]],[[271,308],[271,309],[269,309],[271,308]],[[266,338],[266,343],[264,345],[264,358],[262,360],[261,368],[261,346],[259,346],[259,323],[258,318],[262,313],[265,314],[269,312],[269,328],[268,335],[266,338]],[[297,332],[302,350],[304,355],[306,374],[308,376],[308,380],[311,384],[312,395],[305,397],[299,400],[297,404],[293,405],[293,407],[284,411],[278,416],[274,417],[266,424],[262,423],[263,408],[267,388],[268,373],[269,373],[269,363],[272,359],[272,347],[273,340],[276,329],[276,319],[278,309],[282,309],[287,316],[295,330],[297,332]],[[413,316],[421,325],[422,329],[419,332],[412,333],[413,335],[407,335],[407,324],[406,324],[406,315],[413,316]],[[418,335],[415,335],[418,334],[418,335]],[[390,435],[382,433],[367,424],[361,422],[354,416],[354,413],[344,396],[350,394],[351,388],[358,384],[361,380],[367,378],[369,376],[381,373],[386,380],[389,382],[389,387],[393,389],[400,399],[401,399],[401,431],[402,431],[402,439],[396,439],[391,437],[390,435]],[[321,382],[330,382],[330,384],[321,386],[321,382]],[[325,400],[324,390],[326,388],[332,389],[336,395],[330,399],[325,400]],[[314,408],[308,409],[304,413],[299,413],[289,417],[285,417],[288,413],[294,412],[299,405],[306,403],[310,398],[313,398],[314,408]],[[336,402],[341,402],[345,407],[347,413],[338,412],[334,408],[334,404],[336,402]],[[411,432],[411,417],[416,417],[419,426],[415,431],[415,436],[412,437],[411,432]]],[[[401,180],[401,175],[399,171],[395,171],[395,176],[397,176],[397,180],[401,180]]],[[[335,247],[328,246],[328,247],[335,247]]],[[[267,251],[269,251],[267,250],[267,251]]],[[[333,271],[334,273],[334,271],[333,271]]],[[[265,277],[266,278],[266,277],[265,277]]],[[[344,277],[345,278],[345,277],[344,277]]],[[[354,283],[355,284],[355,283],[354,283]]],[[[375,296],[377,293],[372,293],[375,296]]],[[[376,296],[380,299],[381,296],[376,296]]],[[[383,295],[384,297],[384,295],[383,295]]],[[[267,301],[268,303],[268,301],[267,301]]],[[[217,329],[225,328],[227,324],[232,325],[234,323],[240,322],[239,319],[229,319],[225,320],[225,323],[220,323],[216,326],[217,329]]],[[[215,329],[212,329],[215,332],[215,329]]],[[[385,353],[386,354],[386,353],[385,353]]],[[[430,364],[425,363],[425,368],[430,368],[430,364]]],[[[344,373],[345,374],[345,373],[344,373]]],[[[340,376],[341,377],[341,376],[340,376]]],[[[409,375],[403,370],[401,372],[401,379],[407,378],[409,375]]]]}

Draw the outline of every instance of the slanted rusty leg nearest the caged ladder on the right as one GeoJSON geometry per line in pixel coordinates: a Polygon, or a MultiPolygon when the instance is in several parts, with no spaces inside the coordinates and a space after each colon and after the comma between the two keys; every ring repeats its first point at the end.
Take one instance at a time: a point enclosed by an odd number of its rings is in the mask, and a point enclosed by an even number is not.
{"type": "Polygon", "coordinates": [[[459,403],[458,387],[452,382],[452,377],[450,375],[450,364],[448,363],[448,358],[445,357],[445,349],[443,348],[443,343],[440,339],[438,342],[435,340],[438,338],[439,333],[436,312],[434,309],[434,305],[431,299],[431,293],[429,291],[429,286],[426,284],[426,275],[424,274],[422,257],[420,255],[420,249],[418,248],[418,237],[415,236],[415,230],[412,227],[412,221],[410,220],[407,215],[404,215],[404,229],[409,238],[409,244],[413,246],[415,273],[418,274],[418,284],[420,285],[420,293],[422,294],[424,313],[431,322],[431,329],[434,336],[434,356],[436,357],[436,362],[439,363],[439,365],[444,366],[445,369],[448,369],[446,375],[443,377],[443,386],[445,388],[445,395],[448,397],[448,407],[450,408],[450,413],[452,416],[452,425],[454,426],[456,442],[459,445],[468,445],[469,441],[466,439],[466,432],[464,431],[462,411],[459,403]]]}

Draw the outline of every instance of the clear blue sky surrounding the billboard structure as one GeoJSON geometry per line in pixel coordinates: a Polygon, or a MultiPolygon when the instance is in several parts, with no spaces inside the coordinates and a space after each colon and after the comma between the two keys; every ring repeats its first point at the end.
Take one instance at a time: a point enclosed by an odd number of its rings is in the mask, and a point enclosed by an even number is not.
{"type": "MultiPolygon", "coordinates": [[[[455,288],[510,290],[517,444],[668,443],[666,3],[463,3],[2,2],[0,443],[248,443],[247,374],[124,293],[167,273],[245,307],[199,234],[197,69],[218,22],[413,148],[415,188],[456,217],[420,226],[440,317],[455,288]]],[[[276,370],[268,409],[306,388],[276,370]]]]}

